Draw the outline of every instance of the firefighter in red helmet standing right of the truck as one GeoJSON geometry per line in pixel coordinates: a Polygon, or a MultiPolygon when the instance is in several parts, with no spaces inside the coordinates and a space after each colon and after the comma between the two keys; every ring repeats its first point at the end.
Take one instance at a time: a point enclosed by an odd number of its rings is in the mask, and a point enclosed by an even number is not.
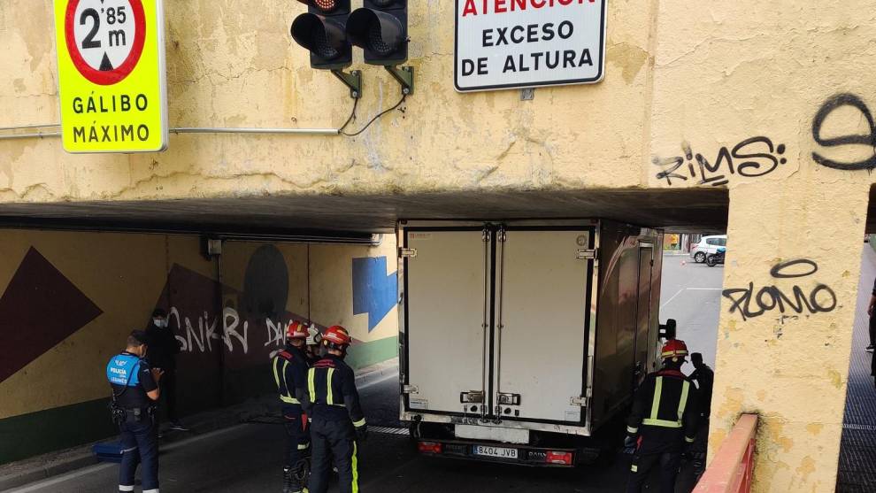
{"type": "Polygon", "coordinates": [[[654,466],[660,468],[660,492],[675,491],[681,453],[696,437],[699,397],[694,384],[681,373],[688,346],[672,339],[660,356],[663,368],[642,381],[626,422],[625,445],[635,448],[627,493],[641,492],[654,466]]]}

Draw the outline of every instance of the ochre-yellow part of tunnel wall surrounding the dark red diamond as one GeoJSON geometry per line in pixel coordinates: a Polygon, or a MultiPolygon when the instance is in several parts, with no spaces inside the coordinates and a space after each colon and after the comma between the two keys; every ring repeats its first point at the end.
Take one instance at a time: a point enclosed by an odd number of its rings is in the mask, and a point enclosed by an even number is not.
{"type": "Polygon", "coordinates": [[[98,377],[112,354],[124,349],[127,333],[146,326],[165,283],[165,249],[173,250],[174,261],[209,271],[198,258],[196,238],[21,230],[4,230],[0,237],[0,291],[34,247],[103,311],[0,382],[0,419],[107,397],[98,377]]]}

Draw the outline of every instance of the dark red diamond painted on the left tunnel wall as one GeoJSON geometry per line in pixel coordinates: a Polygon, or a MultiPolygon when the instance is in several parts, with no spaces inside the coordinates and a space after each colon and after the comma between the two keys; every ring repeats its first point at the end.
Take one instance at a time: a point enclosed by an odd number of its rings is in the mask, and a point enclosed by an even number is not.
{"type": "Polygon", "coordinates": [[[0,381],[103,313],[35,248],[0,297],[0,381]]]}

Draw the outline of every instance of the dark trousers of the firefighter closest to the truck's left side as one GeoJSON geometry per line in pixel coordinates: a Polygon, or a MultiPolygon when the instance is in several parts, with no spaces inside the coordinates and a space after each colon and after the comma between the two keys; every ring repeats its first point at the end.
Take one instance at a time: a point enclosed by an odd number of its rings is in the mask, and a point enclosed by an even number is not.
{"type": "Polygon", "coordinates": [[[332,462],[338,468],[338,491],[357,493],[359,472],[357,470],[356,432],[353,424],[346,421],[328,421],[313,418],[311,422],[311,481],[310,493],[326,493],[332,462]]]}

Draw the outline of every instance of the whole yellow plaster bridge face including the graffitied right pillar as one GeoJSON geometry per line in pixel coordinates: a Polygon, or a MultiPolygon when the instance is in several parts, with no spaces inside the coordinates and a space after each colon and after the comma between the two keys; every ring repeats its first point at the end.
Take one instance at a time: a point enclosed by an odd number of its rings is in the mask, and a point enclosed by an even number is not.
{"type": "MultiPolygon", "coordinates": [[[[346,118],[346,89],[312,71],[288,37],[301,4],[166,4],[173,126],[329,127],[346,118]]],[[[0,200],[727,187],[726,288],[753,282],[809,294],[823,283],[837,304],[798,319],[780,320],[773,310],[742,320],[725,298],[711,450],[739,412],[759,412],[756,489],[832,489],[858,278],[857,255],[849,252],[864,233],[872,176],[818,165],[812,152],[849,162],[872,158],[872,146],[824,149],[812,123],[837,93],[876,107],[869,70],[876,2],[609,4],[606,77],[595,86],[538,89],[530,102],[516,91],[459,95],[452,89],[453,4],[415,2],[418,92],[406,112],[360,137],[184,135],[172,136],[162,154],[112,156],[66,155],[51,139],[2,142],[0,200]],[[734,157],[734,147],[752,137],[763,138],[734,157]],[[733,172],[726,154],[718,166],[722,150],[734,159],[733,172]],[[697,153],[718,166],[703,183],[697,153]],[[677,176],[658,176],[676,157],[677,176]],[[795,259],[816,263],[818,272],[772,277],[773,266],[795,259]]],[[[0,5],[0,65],[7,68],[0,72],[0,126],[57,121],[49,32],[50,0],[0,5]]],[[[365,77],[357,123],[398,94],[388,74],[369,67],[365,77]]],[[[826,137],[856,134],[872,134],[859,110],[838,109],[824,122],[826,137]]],[[[317,250],[311,255],[319,263],[317,250]]],[[[313,289],[330,289],[333,279],[311,278],[313,289]]],[[[320,303],[312,299],[311,310],[331,318],[334,307],[320,303]]],[[[363,334],[355,317],[342,320],[363,334]]]]}

